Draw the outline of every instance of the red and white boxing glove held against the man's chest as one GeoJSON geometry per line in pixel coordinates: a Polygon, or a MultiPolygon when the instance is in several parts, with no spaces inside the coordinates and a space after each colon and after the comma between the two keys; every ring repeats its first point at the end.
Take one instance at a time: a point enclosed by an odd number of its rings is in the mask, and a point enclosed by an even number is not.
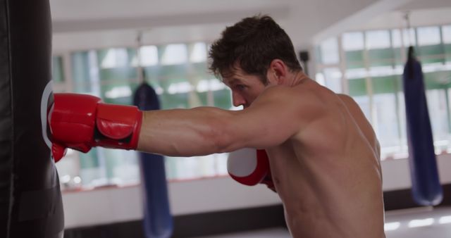
{"type": "Polygon", "coordinates": [[[271,178],[268,155],[264,149],[239,149],[228,156],[228,174],[241,184],[254,186],[266,184],[276,192],[271,178]]]}

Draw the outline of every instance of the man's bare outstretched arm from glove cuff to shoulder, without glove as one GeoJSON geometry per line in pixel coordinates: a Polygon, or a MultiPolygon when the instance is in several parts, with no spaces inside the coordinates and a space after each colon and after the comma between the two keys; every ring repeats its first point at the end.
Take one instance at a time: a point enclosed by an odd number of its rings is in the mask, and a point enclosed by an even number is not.
{"type": "Polygon", "coordinates": [[[267,89],[242,111],[199,107],[144,112],[137,149],[197,156],[276,146],[298,132],[302,122],[299,104],[290,91],[287,87],[267,89]]]}

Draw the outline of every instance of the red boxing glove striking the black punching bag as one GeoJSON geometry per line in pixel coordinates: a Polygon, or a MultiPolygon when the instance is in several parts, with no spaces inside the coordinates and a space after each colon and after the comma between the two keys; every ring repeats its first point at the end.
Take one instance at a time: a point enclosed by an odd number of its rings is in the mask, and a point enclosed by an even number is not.
{"type": "Polygon", "coordinates": [[[97,96],[54,94],[48,123],[51,154],[58,162],[67,148],[84,153],[94,146],[136,149],[142,111],[136,106],[104,104],[97,96]]]}

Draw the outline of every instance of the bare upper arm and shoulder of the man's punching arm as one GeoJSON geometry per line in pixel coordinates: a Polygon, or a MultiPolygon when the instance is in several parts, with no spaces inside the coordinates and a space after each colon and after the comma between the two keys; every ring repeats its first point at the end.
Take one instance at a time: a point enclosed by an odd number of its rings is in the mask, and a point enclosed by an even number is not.
{"type": "Polygon", "coordinates": [[[236,111],[233,120],[228,120],[236,135],[234,148],[282,144],[327,113],[316,104],[319,100],[307,89],[283,85],[265,89],[251,106],[236,111]]]}

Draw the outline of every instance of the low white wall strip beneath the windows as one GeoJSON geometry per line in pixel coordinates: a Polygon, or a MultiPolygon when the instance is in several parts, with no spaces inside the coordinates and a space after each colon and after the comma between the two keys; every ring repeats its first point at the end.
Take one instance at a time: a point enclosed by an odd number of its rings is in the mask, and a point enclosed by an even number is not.
{"type": "MultiPolygon", "coordinates": [[[[451,182],[451,154],[438,156],[440,181],[451,182]]],[[[383,190],[411,187],[407,159],[383,161],[383,190]]],[[[280,204],[264,185],[247,187],[230,177],[171,182],[168,193],[173,215],[225,211],[280,204]]],[[[142,219],[140,187],[63,192],[66,229],[142,219]]]]}

